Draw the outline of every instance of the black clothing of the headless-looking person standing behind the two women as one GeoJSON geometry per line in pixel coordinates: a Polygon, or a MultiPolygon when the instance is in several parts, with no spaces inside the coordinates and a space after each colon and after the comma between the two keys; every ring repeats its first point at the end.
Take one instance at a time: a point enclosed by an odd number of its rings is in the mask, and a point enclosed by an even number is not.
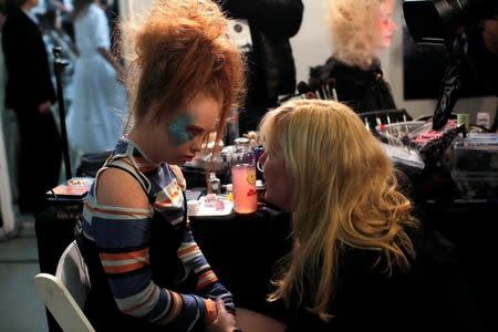
{"type": "Polygon", "coordinates": [[[247,54],[248,94],[240,129],[253,129],[279,95],[295,90],[295,64],[289,39],[301,27],[301,0],[218,0],[228,17],[247,19],[252,52],[247,54]]]}

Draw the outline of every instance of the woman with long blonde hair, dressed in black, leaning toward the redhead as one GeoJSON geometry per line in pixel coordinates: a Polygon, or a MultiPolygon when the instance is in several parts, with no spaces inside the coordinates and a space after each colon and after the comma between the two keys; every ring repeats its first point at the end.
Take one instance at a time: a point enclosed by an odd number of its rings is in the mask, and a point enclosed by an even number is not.
{"type": "MultiPolygon", "coordinates": [[[[266,199],[292,212],[270,301],[287,331],[478,331],[452,245],[421,227],[391,160],[347,106],[294,101],[261,124],[266,199]]],[[[271,324],[238,311],[243,331],[271,324]]]]}

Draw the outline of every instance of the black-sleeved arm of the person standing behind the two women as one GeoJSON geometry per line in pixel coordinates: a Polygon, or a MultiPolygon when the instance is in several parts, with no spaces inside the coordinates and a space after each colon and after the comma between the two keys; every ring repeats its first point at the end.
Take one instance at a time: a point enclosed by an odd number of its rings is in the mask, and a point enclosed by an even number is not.
{"type": "Polygon", "coordinates": [[[264,33],[291,38],[301,27],[301,0],[219,0],[224,10],[237,19],[249,19],[264,33]]]}

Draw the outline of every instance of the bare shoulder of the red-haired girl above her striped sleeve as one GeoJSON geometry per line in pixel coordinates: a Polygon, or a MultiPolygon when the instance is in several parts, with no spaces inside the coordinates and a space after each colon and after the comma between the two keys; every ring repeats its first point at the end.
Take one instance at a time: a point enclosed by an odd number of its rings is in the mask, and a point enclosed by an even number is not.
{"type": "Polygon", "coordinates": [[[118,168],[98,175],[96,199],[100,205],[148,209],[147,195],[136,178],[118,168]]]}

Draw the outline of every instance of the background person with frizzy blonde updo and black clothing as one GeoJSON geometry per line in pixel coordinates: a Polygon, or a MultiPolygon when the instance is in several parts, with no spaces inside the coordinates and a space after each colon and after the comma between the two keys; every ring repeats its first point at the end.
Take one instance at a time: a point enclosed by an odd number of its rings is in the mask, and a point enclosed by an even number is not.
{"type": "Polygon", "coordinates": [[[357,113],[395,108],[378,61],[396,29],[393,11],[393,0],[329,0],[333,53],[311,69],[310,85],[335,80],[339,101],[357,113]]]}

